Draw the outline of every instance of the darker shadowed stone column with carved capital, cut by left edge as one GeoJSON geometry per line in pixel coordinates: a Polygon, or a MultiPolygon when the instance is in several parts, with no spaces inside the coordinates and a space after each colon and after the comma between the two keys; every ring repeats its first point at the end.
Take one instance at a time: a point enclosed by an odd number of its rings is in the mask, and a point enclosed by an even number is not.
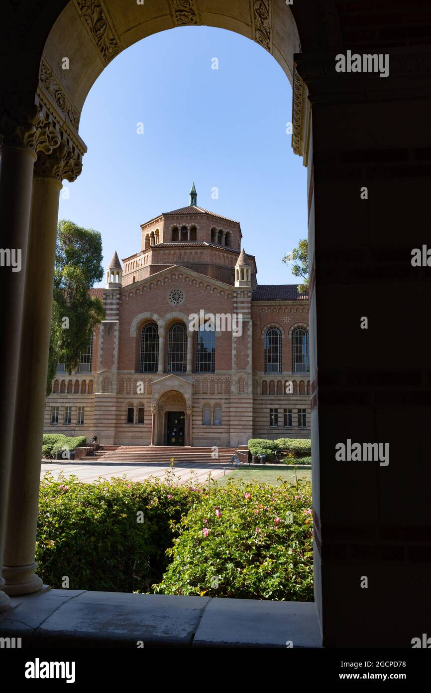
{"type": "MultiPolygon", "coordinates": [[[[1,292],[6,308],[2,328],[6,336],[0,345],[0,392],[8,406],[0,417],[0,567],[3,563],[12,459],[33,166],[38,151],[51,152],[58,144],[59,134],[35,105],[0,114],[1,245],[3,250],[11,252],[11,260],[15,264],[15,267],[1,268],[1,292]]],[[[3,584],[0,573],[0,588],[3,584]]],[[[9,597],[0,590],[0,611],[8,608],[8,604],[9,597]]]]}

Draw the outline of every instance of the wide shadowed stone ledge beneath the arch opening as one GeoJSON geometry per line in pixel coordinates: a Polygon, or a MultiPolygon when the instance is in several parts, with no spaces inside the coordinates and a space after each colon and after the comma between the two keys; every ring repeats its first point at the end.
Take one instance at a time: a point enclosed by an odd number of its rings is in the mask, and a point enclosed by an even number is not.
{"type": "Polygon", "coordinates": [[[315,605],[49,590],[13,597],[0,637],[23,648],[322,647],[315,605]]]}

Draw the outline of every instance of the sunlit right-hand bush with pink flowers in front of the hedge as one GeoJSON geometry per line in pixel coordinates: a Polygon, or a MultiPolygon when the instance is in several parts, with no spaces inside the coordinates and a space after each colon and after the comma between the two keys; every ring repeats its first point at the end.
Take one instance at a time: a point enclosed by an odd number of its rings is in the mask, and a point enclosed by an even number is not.
{"type": "Polygon", "coordinates": [[[156,593],[313,600],[311,484],[237,482],[201,494],[177,523],[156,593]],[[293,523],[288,513],[293,514],[293,523]]]}

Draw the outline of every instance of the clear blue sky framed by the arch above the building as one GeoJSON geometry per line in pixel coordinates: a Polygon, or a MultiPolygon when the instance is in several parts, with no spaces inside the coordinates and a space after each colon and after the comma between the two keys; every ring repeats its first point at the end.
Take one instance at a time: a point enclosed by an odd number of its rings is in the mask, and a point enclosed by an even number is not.
{"type": "Polygon", "coordinates": [[[89,151],[77,181],[64,182],[70,198],[60,195],[59,218],[100,231],[106,267],[115,250],[120,259],[140,250],[140,224],[188,204],[194,181],[201,207],[241,223],[258,283],[298,283],[282,263],[307,234],[291,115],[291,85],[255,42],[201,26],[147,37],[86,98],[80,134],[89,151]]]}

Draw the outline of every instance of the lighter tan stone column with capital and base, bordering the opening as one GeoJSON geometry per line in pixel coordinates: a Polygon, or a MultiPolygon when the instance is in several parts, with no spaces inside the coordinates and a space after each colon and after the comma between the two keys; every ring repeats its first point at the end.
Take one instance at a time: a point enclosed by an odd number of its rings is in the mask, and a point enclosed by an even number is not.
{"type": "Polygon", "coordinates": [[[35,164],[16,398],[19,416],[12,443],[3,556],[8,595],[29,594],[42,588],[42,580],[34,572],[34,559],[58,202],[61,180],[74,180],[80,170],[80,161],[73,159],[64,145],[51,156],[39,153],[35,164]]]}

